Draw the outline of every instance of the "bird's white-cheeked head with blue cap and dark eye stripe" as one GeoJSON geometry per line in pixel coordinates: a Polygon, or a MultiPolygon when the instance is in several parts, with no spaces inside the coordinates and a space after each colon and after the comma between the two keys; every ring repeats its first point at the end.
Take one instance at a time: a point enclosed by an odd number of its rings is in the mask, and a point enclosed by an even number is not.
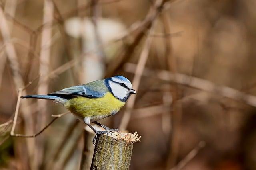
{"type": "Polygon", "coordinates": [[[132,83],[123,76],[114,76],[106,79],[108,90],[119,100],[126,102],[131,94],[136,91],[132,89],[132,83]]]}

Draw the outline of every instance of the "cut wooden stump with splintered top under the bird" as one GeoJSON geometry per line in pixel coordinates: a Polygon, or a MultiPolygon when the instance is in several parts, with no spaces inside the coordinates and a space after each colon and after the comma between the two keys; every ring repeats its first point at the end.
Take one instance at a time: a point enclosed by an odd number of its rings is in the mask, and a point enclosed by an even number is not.
{"type": "Polygon", "coordinates": [[[133,143],[138,134],[115,133],[98,135],[92,158],[91,170],[128,170],[133,143]]]}

